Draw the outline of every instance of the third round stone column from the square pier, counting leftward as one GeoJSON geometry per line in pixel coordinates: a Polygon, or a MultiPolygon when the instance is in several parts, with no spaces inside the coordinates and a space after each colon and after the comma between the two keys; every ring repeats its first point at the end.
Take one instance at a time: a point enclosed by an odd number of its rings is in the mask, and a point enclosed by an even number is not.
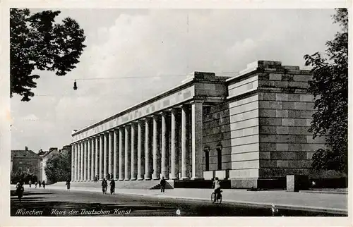
{"type": "Polygon", "coordinates": [[[167,113],[162,114],[162,177],[169,179],[169,141],[168,141],[168,128],[167,128],[167,113]]]}

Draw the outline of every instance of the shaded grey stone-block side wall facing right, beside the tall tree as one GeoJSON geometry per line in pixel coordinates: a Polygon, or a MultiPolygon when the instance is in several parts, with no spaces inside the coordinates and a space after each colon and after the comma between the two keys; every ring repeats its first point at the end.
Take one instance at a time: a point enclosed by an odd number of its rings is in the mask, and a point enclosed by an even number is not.
{"type": "Polygon", "coordinates": [[[308,131],[314,113],[313,95],[306,92],[311,75],[290,69],[258,75],[259,178],[309,175],[313,153],[325,144],[308,131]]]}

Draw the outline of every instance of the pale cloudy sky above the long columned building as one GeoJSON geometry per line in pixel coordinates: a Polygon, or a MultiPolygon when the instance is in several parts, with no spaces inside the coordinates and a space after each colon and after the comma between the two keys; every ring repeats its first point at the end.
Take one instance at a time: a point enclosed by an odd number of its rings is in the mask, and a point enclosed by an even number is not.
{"type": "Polygon", "coordinates": [[[30,102],[11,99],[11,149],[60,149],[72,130],[180,85],[196,70],[232,76],[258,60],[302,67],[304,54],[325,51],[339,30],[333,9],[59,10],[57,22],[75,19],[87,47],[67,75],[37,72],[30,102]]]}

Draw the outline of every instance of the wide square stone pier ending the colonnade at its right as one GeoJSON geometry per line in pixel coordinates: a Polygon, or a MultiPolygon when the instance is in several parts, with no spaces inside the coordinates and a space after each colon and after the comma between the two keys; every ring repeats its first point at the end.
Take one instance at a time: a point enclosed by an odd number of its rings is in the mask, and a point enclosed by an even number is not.
{"type": "Polygon", "coordinates": [[[191,104],[191,133],[192,133],[192,177],[203,178],[203,102],[194,101],[191,104]]]}

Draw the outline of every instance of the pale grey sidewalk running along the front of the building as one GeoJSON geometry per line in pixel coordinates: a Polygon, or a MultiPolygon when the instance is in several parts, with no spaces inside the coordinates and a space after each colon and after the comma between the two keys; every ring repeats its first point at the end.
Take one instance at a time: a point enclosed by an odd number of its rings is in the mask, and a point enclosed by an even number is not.
{"type": "MultiPolygon", "coordinates": [[[[47,185],[47,189],[66,190],[66,187],[47,185]]],[[[100,188],[71,188],[71,190],[101,192],[100,188]]],[[[160,190],[116,188],[116,194],[203,201],[210,201],[212,191],[212,189],[175,188],[173,190],[165,190],[162,193],[160,190]]],[[[275,204],[278,209],[348,214],[348,195],[344,194],[286,192],[282,190],[251,192],[224,189],[222,192],[222,203],[234,203],[249,207],[270,207],[275,204]]]]}

